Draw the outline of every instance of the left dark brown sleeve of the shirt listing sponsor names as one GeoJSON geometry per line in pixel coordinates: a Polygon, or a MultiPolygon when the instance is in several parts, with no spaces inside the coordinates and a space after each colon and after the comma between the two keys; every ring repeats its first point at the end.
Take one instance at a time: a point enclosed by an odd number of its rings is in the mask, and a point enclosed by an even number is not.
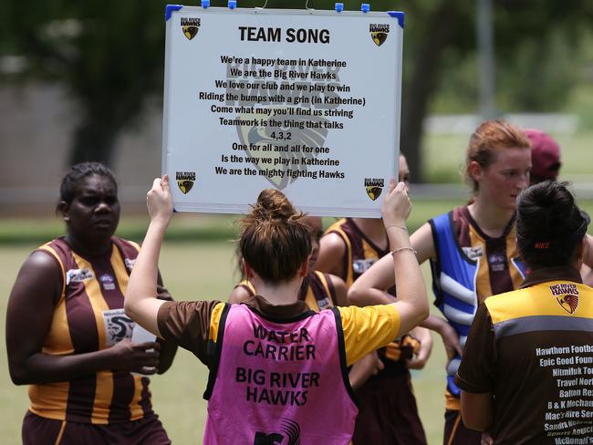
{"type": "Polygon", "coordinates": [[[494,326],[486,305],[482,304],[473,317],[455,384],[473,394],[492,392],[495,355],[494,326]]]}

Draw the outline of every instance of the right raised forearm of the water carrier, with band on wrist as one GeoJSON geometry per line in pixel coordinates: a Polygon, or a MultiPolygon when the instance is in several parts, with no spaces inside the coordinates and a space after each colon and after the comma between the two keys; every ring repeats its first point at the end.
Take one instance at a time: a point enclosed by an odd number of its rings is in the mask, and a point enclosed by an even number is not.
{"type": "Polygon", "coordinates": [[[420,325],[429,315],[426,286],[405,225],[411,212],[411,202],[403,182],[395,186],[395,182],[391,181],[381,212],[392,250],[397,301],[391,304],[400,313],[401,336],[420,325]]]}

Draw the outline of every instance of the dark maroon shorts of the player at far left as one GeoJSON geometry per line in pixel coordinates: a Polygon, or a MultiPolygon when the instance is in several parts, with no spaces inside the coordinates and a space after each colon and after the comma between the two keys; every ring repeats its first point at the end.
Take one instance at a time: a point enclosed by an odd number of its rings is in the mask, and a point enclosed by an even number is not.
{"type": "Polygon", "coordinates": [[[97,425],[47,419],[27,411],[23,419],[23,445],[170,445],[156,415],[129,422],[97,425]]]}

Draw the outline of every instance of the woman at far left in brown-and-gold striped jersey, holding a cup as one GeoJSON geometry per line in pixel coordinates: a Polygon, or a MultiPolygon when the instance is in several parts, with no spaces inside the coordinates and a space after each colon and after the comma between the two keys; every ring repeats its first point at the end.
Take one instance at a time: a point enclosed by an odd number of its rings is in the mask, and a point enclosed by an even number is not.
{"type": "MultiPolygon", "coordinates": [[[[123,299],[140,248],[113,236],[120,202],[111,171],[73,166],[57,212],[66,236],[26,259],[6,313],[10,376],[29,385],[31,400],[23,443],[171,443],[145,376],[167,370],[176,347],[131,342],[123,299]]],[[[159,297],[170,300],[159,282],[159,297]]]]}

